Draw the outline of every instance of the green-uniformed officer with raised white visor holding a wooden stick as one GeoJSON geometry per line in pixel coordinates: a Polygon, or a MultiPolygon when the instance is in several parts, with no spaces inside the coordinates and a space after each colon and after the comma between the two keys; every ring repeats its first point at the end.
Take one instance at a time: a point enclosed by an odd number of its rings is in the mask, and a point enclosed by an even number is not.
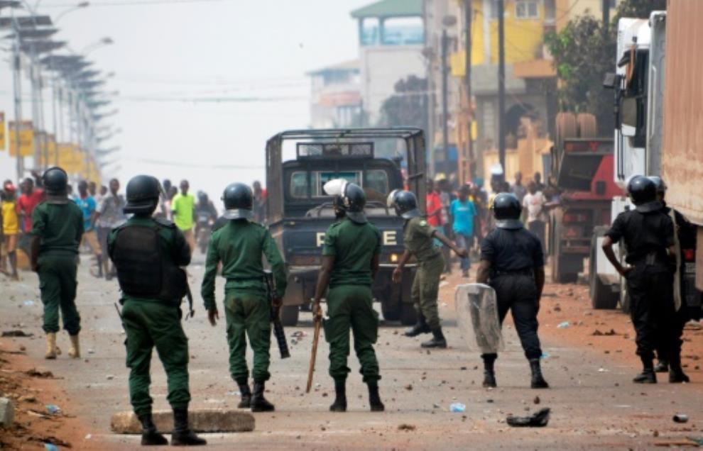
{"type": "Polygon", "coordinates": [[[364,215],[364,190],[342,179],[331,180],[325,192],[334,197],[337,221],[325,232],[322,269],[315,288],[313,312],[322,316],[320,300],[327,291],[327,316],[323,326],[329,343],[329,375],[336,397],[329,410],[347,411],[347,367],[349,329],[354,333],[354,350],[361,375],[369,386],[372,412],[384,410],[378,394],[378,360],[374,343],[378,339],[378,313],[374,311],[371,284],[378,272],[381,233],[364,215]]]}

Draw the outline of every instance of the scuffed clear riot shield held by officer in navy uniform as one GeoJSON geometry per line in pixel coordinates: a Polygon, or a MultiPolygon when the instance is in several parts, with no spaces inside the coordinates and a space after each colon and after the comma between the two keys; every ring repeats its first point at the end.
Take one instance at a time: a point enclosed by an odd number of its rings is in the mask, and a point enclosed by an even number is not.
{"type": "Polygon", "coordinates": [[[457,323],[469,350],[494,354],[505,349],[498,320],[496,291],[484,284],[463,284],[454,292],[457,323]]]}

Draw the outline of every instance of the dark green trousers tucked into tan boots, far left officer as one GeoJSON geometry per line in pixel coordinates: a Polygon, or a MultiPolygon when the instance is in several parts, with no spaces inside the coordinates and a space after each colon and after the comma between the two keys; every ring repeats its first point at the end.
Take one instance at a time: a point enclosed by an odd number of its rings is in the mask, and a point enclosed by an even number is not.
{"type": "Polygon", "coordinates": [[[44,304],[46,333],[59,331],[59,308],[63,328],[70,335],[80,332],[80,315],[76,308],[76,257],[75,255],[44,255],[39,257],[39,289],[44,304]]]}

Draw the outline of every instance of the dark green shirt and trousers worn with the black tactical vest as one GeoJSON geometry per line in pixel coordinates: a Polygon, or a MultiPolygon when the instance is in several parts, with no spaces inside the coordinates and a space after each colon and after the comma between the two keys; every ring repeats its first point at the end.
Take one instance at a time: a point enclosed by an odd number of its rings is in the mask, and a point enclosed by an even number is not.
{"type": "MultiPolygon", "coordinates": [[[[190,263],[190,247],[173,223],[133,216],[121,228],[112,230],[107,238],[108,253],[113,255],[119,231],[129,227],[158,227],[160,252],[173,259],[178,266],[190,263]]],[[[119,271],[119,269],[118,269],[119,271]]],[[[187,408],[190,403],[188,388],[188,339],[180,322],[181,299],[163,301],[123,295],[122,327],[127,335],[126,364],[129,372],[129,398],[137,416],[151,413],[153,400],[149,395],[151,384],[151,352],[156,347],[168,382],[167,400],[171,408],[187,408]]]]}

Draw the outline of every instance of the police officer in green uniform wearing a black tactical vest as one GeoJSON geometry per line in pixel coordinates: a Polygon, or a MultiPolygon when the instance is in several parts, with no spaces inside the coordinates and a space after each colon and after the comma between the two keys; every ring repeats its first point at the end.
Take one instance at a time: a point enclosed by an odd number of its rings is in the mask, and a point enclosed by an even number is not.
{"type": "Polygon", "coordinates": [[[180,323],[180,302],[187,294],[180,267],[190,263],[190,247],[172,222],[152,217],[159,192],[155,177],[131,179],[124,213],[133,216],[108,236],[108,253],[122,291],[129,397],[143,428],[141,444],[168,445],[151,416],[150,365],[156,347],[168,380],[166,399],[173,408],[171,445],[205,445],[188,426],[188,339],[180,323]]]}

